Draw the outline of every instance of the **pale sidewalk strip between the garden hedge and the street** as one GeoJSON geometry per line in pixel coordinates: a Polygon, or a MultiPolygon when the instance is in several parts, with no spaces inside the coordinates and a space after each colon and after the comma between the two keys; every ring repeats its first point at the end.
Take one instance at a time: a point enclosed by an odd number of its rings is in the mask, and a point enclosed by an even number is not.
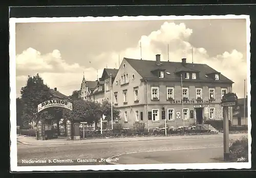
{"type": "MultiPolygon", "coordinates": [[[[242,137],[247,134],[232,134],[230,137],[242,137]]],[[[36,140],[35,137],[17,136],[17,142],[26,145],[65,145],[65,144],[85,144],[85,143],[111,143],[111,142],[131,142],[131,141],[148,141],[148,140],[173,140],[173,139],[196,139],[196,138],[222,138],[223,134],[215,135],[188,135],[188,136],[152,136],[152,137],[122,137],[122,138],[95,138],[82,140],[67,140],[58,138],[52,140],[36,140]]]]}

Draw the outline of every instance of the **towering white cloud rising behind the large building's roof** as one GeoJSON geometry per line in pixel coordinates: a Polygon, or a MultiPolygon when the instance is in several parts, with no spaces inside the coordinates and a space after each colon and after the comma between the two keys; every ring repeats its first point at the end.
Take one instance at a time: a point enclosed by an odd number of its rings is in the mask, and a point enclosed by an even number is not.
{"type": "MultiPolygon", "coordinates": [[[[113,59],[120,54],[121,57],[140,59],[140,45],[142,59],[155,60],[156,54],[161,54],[161,59],[167,61],[169,44],[169,60],[180,62],[181,58],[187,58],[192,62],[192,48],[194,63],[207,64],[221,72],[225,77],[234,82],[233,92],[239,97],[244,96],[244,80],[247,76],[246,58],[241,52],[233,49],[230,52],[224,51],[216,57],[209,57],[207,50],[203,47],[195,47],[189,43],[193,30],[186,28],[184,23],[164,22],[159,30],[149,35],[141,36],[136,47],[127,48],[121,52],[104,53],[96,56],[97,61],[113,59]]],[[[210,41],[209,41],[210,42],[210,41]]],[[[218,45],[218,44],[216,44],[218,45]]],[[[109,65],[114,66],[114,61],[109,60],[109,65]]]]}

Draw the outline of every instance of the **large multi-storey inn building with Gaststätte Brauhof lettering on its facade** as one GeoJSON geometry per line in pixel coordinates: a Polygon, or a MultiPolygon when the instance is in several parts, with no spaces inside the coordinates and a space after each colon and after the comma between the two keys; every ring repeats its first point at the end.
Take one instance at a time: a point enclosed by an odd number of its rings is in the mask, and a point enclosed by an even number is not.
{"type": "MultiPolygon", "coordinates": [[[[186,59],[167,62],[160,55],[154,61],[124,58],[113,81],[113,104],[121,111],[125,128],[143,122],[153,129],[164,125],[165,118],[169,126],[203,124],[223,118],[221,98],[232,92],[232,84],[208,65],[186,59]]],[[[232,109],[229,112],[232,115],[232,109]]]]}

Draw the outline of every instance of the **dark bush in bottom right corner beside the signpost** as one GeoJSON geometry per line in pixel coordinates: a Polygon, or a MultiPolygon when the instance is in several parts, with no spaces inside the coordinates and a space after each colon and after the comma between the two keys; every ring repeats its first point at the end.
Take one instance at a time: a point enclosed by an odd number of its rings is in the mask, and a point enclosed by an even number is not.
{"type": "Polygon", "coordinates": [[[241,137],[239,140],[231,140],[230,161],[248,162],[248,138],[241,137]],[[240,160],[239,160],[240,159],[240,160]]]}

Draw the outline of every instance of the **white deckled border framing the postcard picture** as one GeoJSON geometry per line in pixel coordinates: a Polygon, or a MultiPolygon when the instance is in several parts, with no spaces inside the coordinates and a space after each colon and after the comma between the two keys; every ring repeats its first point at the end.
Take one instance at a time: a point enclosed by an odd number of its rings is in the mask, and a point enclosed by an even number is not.
{"type": "Polygon", "coordinates": [[[251,168],[251,119],[250,119],[250,18],[249,15],[210,16],[113,16],[113,17],[52,17],[52,18],[10,18],[10,168],[11,171],[80,171],[80,170],[164,170],[164,169],[242,169],[251,168]],[[191,19],[246,19],[247,37],[247,93],[248,93],[248,163],[189,163],[189,164],[131,164],[131,165],[83,165],[83,166],[17,166],[16,134],[16,60],[15,23],[30,22],[78,22],[78,21],[133,21],[133,20],[191,20],[191,19]]]}

